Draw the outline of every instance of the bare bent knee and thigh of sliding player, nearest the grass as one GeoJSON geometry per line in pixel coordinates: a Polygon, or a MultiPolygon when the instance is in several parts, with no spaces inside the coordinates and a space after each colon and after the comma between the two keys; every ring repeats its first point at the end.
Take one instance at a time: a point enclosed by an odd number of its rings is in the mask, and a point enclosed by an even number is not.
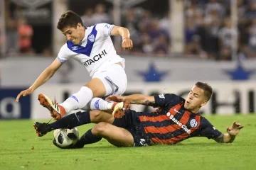
{"type": "Polygon", "coordinates": [[[104,137],[117,147],[133,147],[134,145],[134,138],[128,130],[110,123],[98,123],[92,128],[92,134],[104,137]]]}

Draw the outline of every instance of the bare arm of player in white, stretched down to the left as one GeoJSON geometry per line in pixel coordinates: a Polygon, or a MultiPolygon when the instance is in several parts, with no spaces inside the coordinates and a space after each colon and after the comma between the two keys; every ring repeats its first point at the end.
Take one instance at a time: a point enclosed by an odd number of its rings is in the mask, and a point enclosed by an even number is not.
{"type": "Polygon", "coordinates": [[[58,68],[60,68],[61,63],[59,62],[59,60],[56,58],[52,64],[50,64],[49,67],[47,67],[41,74],[40,76],[36,79],[36,81],[33,83],[33,85],[31,87],[29,87],[28,89],[21,91],[21,93],[18,94],[18,96],[16,97],[16,102],[19,101],[19,98],[21,96],[27,96],[33,93],[33,91],[35,91],[39,86],[43,85],[44,83],[46,83],[46,81],[48,81],[48,79],[50,79],[50,77],[53,77],[53,74],[58,70],[58,68]]]}

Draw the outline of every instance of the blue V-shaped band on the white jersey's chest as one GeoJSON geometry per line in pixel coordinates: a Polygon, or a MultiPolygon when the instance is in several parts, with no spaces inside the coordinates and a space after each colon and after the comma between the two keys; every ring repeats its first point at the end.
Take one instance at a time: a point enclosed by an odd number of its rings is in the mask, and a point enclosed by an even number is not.
{"type": "Polygon", "coordinates": [[[90,57],[90,53],[92,52],[92,47],[94,45],[96,35],[97,35],[96,26],[97,25],[93,26],[92,32],[88,35],[87,44],[85,45],[85,47],[82,47],[81,45],[75,45],[72,41],[68,40],[67,41],[68,48],[73,52],[87,55],[88,57],[90,57]]]}

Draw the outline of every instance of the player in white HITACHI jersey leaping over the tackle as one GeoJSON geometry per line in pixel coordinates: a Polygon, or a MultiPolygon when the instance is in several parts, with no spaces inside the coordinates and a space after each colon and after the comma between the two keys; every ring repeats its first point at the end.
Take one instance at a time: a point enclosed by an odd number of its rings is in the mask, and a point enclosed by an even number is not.
{"type": "Polygon", "coordinates": [[[60,104],[51,101],[44,94],[39,94],[38,100],[41,105],[48,108],[54,120],[59,120],[65,113],[78,108],[113,109],[112,103],[107,103],[99,97],[123,94],[127,88],[127,76],[124,72],[124,59],[114,50],[110,35],[120,35],[124,50],[130,50],[133,44],[129,38],[129,30],[108,23],[98,23],[86,28],[80,16],[73,11],[63,13],[57,28],[68,41],[60,48],[53,63],[41,73],[30,88],[18,94],[16,101],[18,102],[21,96],[32,94],[53,77],[65,61],[73,58],[87,69],[92,79],[82,86],[80,91],[60,104]]]}

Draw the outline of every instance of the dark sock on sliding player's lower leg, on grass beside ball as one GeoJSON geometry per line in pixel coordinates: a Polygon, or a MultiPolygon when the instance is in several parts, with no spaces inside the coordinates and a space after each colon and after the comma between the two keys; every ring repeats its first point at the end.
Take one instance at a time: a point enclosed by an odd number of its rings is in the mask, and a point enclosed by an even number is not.
{"type": "Polygon", "coordinates": [[[96,143],[100,140],[102,140],[102,137],[97,137],[93,135],[92,129],[90,129],[87,130],[87,132],[85,132],[85,134],[80,137],[78,142],[75,144],[75,147],[83,147],[84,145],[96,143]]]}

